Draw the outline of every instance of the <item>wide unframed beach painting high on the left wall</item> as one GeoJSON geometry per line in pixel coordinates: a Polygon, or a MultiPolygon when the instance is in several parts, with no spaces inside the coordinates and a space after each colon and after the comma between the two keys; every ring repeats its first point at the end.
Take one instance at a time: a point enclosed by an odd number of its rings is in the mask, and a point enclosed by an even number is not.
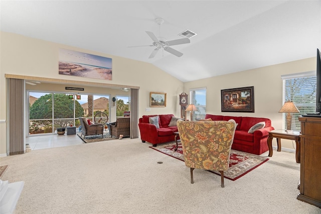
{"type": "Polygon", "coordinates": [[[111,58],[59,49],[59,74],[111,80],[111,58]]]}

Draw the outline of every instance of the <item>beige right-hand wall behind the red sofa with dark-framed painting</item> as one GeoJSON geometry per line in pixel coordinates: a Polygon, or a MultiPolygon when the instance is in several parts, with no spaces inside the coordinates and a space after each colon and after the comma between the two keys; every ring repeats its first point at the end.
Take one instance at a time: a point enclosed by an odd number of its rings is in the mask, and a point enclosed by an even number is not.
{"type": "MultiPolygon", "coordinates": [[[[208,114],[230,115],[269,118],[275,129],[282,129],[281,109],[283,83],[281,75],[312,71],[316,69],[316,57],[302,59],[277,65],[261,67],[242,72],[216,76],[197,81],[186,82],[184,90],[190,88],[207,88],[207,108],[208,114]],[[238,88],[254,86],[254,113],[228,113],[221,112],[221,89],[238,88]]],[[[276,146],[276,140],[273,139],[273,146],[276,146]]],[[[281,141],[281,146],[293,149],[292,142],[281,141]]],[[[294,142],[295,148],[295,142],[294,142]]]]}

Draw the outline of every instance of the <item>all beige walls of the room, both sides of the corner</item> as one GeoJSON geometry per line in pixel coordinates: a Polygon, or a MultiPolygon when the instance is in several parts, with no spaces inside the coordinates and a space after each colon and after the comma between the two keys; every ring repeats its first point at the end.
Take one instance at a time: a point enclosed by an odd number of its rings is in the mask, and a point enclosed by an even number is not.
{"type": "MultiPolygon", "coordinates": [[[[180,117],[179,94],[190,88],[207,87],[207,113],[233,116],[265,117],[275,129],[282,128],[282,74],[315,70],[316,58],[282,63],[233,74],[183,83],[152,64],[118,56],[83,50],[62,44],[1,32],[0,35],[0,155],[6,153],[6,80],[5,74],[55,79],[139,86],[139,116],[174,114],[180,117]],[[58,74],[59,48],[112,58],[112,80],[74,77],[58,74]],[[221,113],[221,89],[254,86],[255,113],[221,113]],[[149,92],[166,92],[166,108],[149,108],[149,92]]],[[[276,145],[273,140],[273,145],[276,145]]],[[[295,143],[294,143],[295,146],[295,143]]],[[[282,147],[293,149],[290,141],[282,147]]]]}

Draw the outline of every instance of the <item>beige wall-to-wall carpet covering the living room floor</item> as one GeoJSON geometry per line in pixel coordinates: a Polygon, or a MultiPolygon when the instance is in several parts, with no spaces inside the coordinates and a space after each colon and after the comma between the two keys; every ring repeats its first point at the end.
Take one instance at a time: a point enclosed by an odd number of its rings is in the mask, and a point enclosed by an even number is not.
{"type": "MultiPolygon", "coordinates": [[[[3,180],[25,181],[17,213],[320,213],[297,200],[295,154],[269,161],[236,181],[122,139],[34,150],[0,158],[3,180]],[[158,164],[157,162],[163,162],[158,164]]],[[[268,153],[262,154],[267,157],[268,153]]]]}

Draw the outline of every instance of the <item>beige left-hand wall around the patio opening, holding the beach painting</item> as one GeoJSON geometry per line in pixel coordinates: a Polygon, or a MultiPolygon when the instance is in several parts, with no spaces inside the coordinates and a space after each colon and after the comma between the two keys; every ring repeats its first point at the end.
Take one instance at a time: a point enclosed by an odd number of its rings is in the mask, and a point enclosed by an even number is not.
{"type": "Polygon", "coordinates": [[[183,82],[150,63],[32,39],[6,32],[1,32],[0,44],[0,155],[6,154],[7,150],[7,96],[5,74],[138,86],[139,116],[170,113],[175,115],[180,114],[178,94],[183,92],[183,82]],[[58,74],[59,48],[112,58],[112,80],[58,74]],[[167,93],[166,108],[150,108],[150,112],[145,112],[145,109],[149,108],[150,91],[167,93]]]}

